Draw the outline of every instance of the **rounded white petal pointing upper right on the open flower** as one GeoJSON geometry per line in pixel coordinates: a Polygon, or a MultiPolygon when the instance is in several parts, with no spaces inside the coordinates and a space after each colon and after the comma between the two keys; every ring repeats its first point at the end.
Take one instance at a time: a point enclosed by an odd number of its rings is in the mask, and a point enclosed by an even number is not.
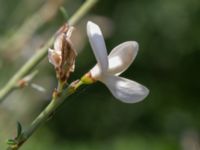
{"type": "Polygon", "coordinates": [[[128,41],[116,46],[108,56],[110,74],[119,75],[124,72],[135,59],[138,52],[138,43],[128,41]]]}

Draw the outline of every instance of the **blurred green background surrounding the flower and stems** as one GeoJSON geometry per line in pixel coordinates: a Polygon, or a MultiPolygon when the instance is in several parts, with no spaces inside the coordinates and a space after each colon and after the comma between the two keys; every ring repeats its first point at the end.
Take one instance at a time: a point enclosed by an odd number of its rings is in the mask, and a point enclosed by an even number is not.
{"type": "MultiPolygon", "coordinates": [[[[1,87],[65,21],[59,7],[71,16],[83,2],[0,0],[1,87]]],[[[146,85],[150,95],[130,105],[101,83],[83,87],[21,149],[200,150],[200,1],[99,0],[75,26],[79,55],[70,81],[96,63],[85,33],[88,20],[100,25],[109,51],[127,40],[139,42],[138,56],[122,76],[146,85]]],[[[47,58],[36,69],[32,83],[45,91],[30,85],[0,105],[2,150],[16,134],[16,122],[27,128],[56,87],[47,58]]]]}

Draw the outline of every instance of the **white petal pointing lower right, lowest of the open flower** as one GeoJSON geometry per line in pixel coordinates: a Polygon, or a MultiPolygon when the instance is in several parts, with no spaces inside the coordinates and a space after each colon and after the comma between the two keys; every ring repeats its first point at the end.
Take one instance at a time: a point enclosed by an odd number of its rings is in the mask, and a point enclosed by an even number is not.
{"type": "Polygon", "coordinates": [[[101,81],[116,99],[125,103],[142,101],[149,94],[149,90],[146,87],[126,78],[106,75],[101,81]]]}

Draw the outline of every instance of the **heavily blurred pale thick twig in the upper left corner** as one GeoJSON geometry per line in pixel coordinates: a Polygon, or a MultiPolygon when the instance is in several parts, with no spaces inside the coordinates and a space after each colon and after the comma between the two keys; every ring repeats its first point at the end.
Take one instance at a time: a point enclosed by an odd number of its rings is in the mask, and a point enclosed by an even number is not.
{"type": "MultiPolygon", "coordinates": [[[[36,13],[31,17],[28,17],[25,22],[20,26],[20,28],[12,35],[9,40],[3,40],[0,45],[1,53],[4,52],[5,55],[9,57],[12,56],[10,53],[13,51],[19,51],[26,44],[26,42],[31,38],[35,31],[44,25],[46,22],[51,20],[61,5],[63,0],[49,0],[45,3],[36,13]],[[51,10],[51,11],[49,11],[51,10]],[[48,11],[48,13],[47,13],[48,11]],[[15,45],[10,49],[10,45],[15,45]]],[[[12,56],[14,57],[14,56],[12,56]]]]}

